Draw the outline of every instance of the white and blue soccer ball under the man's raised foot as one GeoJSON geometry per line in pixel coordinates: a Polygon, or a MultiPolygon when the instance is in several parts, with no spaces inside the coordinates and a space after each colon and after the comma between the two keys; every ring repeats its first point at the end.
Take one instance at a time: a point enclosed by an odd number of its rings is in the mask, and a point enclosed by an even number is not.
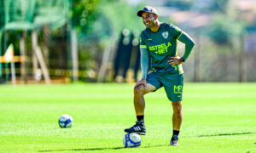
{"type": "Polygon", "coordinates": [[[142,144],[142,139],[137,133],[126,133],[123,144],[125,147],[138,147],[142,144]]]}

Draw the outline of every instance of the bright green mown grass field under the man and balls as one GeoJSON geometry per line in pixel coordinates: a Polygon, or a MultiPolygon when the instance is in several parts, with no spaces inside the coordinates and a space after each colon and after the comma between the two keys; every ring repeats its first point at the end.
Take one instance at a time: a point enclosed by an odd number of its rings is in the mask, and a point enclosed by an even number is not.
{"type": "Polygon", "coordinates": [[[256,152],[256,83],[185,83],[180,146],[170,146],[172,105],[148,94],[147,135],[123,147],[136,121],[133,85],[0,86],[0,152],[256,152]],[[58,127],[62,114],[74,126],[58,127]]]}

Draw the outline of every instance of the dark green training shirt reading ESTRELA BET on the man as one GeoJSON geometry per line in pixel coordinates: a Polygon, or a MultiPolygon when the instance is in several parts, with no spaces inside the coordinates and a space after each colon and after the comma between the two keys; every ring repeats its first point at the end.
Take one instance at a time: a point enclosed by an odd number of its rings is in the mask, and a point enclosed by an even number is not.
{"type": "Polygon", "coordinates": [[[182,65],[169,65],[167,60],[177,56],[177,39],[182,31],[172,24],[161,23],[158,31],[146,28],[140,36],[141,50],[147,49],[153,71],[163,74],[183,74],[182,65]]]}

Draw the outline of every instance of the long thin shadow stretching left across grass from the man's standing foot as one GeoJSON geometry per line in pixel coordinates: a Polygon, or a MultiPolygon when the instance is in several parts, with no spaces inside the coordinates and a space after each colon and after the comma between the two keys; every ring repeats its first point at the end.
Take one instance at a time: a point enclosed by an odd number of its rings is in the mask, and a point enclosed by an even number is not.
{"type": "MultiPolygon", "coordinates": [[[[141,146],[140,148],[154,148],[154,147],[161,147],[167,146],[166,144],[162,145],[148,145],[148,146],[141,146]]],[[[113,148],[84,148],[84,149],[71,149],[71,150],[38,150],[38,152],[53,152],[53,151],[93,151],[93,150],[127,150],[129,148],[125,147],[113,147],[113,148]]]]}

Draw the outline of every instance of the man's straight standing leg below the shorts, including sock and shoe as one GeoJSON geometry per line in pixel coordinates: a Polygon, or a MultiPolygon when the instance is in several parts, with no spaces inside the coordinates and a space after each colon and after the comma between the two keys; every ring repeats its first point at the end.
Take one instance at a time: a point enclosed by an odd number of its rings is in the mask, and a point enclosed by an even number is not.
{"type": "Polygon", "coordinates": [[[178,145],[178,134],[180,127],[183,122],[183,110],[182,110],[182,101],[172,102],[172,139],[171,139],[171,145],[178,145]]]}

